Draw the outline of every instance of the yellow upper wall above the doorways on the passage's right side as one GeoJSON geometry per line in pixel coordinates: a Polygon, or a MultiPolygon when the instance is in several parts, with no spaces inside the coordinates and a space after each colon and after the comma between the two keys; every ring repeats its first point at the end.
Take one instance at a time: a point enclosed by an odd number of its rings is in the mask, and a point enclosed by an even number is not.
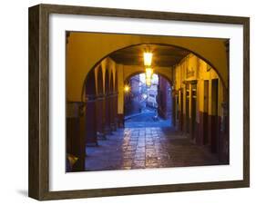
{"type": "MultiPolygon", "coordinates": [[[[199,122],[199,112],[212,113],[211,108],[211,80],[219,79],[219,108],[218,115],[220,116],[220,104],[224,102],[224,90],[223,82],[220,80],[220,76],[215,72],[215,70],[210,67],[210,65],[194,54],[189,54],[186,56],[178,65],[174,68],[174,89],[179,91],[183,90],[183,99],[179,99],[179,102],[183,100],[183,111],[186,113],[186,94],[185,87],[186,82],[197,81],[197,122],[199,122]],[[209,102],[206,104],[205,101],[205,87],[204,81],[209,80],[209,102]]],[[[191,99],[191,84],[189,84],[189,99],[191,99]]],[[[179,103],[181,106],[181,103],[179,103]]],[[[189,100],[189,111],[191,107],[191,101],[189,100]]],[[[180,110],[180,107],[179,107],[180,110]]],[[[189,112],[189,117],[191,117],[191,112],[189,112]]]]}

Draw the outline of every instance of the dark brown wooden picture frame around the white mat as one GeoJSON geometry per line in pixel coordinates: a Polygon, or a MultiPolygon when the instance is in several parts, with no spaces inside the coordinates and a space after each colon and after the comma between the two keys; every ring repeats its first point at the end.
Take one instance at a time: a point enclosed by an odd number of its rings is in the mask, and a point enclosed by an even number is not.
{"type": "Polygon", "coordinates": [[[170,191],[214,190],[250,186],[250,19],[220,15],[191,15],[70,5],[29,8],[29,181],[28,195],[36,200],[60,200],[146,194],[170,191]],[[212,181],[91,190],[49,190],[49,15],[99,15],[243,26],[243,180],[212,181]]]}

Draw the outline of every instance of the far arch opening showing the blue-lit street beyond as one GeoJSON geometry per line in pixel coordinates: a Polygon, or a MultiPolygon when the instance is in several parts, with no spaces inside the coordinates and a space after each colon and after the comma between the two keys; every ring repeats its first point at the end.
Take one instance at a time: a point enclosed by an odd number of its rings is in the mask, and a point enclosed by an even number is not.
{"type": "Polygon", "coordinates": [[[125,127],[171,127],[172,95],[169,80],[154,73],[147,86],[145,73],[136,73],[125,80],[125,127]]]}

